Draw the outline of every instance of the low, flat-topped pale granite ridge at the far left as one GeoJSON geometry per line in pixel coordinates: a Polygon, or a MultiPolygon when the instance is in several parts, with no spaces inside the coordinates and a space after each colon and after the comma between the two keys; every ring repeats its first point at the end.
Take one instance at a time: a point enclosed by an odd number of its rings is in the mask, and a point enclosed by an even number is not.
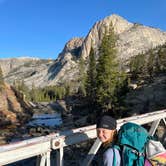
{"type": "Polygon", "coordinates": [[[0,66],[4,75],[4,79],[9,84],[14,81],[24,80],[25,84],[32,87],[47,85],[48,69],[54,63],[54,60],[45,60],[38,58],[9,58],[1,59],[0,66]]]}

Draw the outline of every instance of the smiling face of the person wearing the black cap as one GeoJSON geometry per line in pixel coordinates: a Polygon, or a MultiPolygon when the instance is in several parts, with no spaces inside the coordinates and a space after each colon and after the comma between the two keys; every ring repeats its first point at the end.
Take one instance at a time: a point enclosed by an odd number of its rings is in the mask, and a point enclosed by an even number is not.
{"type": "Polygon", "coordinates": [[[114,130],[97,128],[97,136],[101,140],[101,142],[107,142],[113,138],[114,130]]]}

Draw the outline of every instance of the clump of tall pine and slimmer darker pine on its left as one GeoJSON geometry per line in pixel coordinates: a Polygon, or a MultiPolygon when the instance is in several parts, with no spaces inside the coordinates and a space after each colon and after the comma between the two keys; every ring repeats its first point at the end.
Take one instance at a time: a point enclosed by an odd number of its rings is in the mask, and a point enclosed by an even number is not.
{"type": "MultiPolygon", "coordinates": [[[[112,25],[105,30],[100,48],[98,62],[91,48],[86,79],[86,97],[90,107],[97,113],[119,109],[123,96],[128,90],[127,75],[120,70],[117,61],[116,35],[112,25]]],[[[95,113],[95,112],[94,112],[95,113]]]]}

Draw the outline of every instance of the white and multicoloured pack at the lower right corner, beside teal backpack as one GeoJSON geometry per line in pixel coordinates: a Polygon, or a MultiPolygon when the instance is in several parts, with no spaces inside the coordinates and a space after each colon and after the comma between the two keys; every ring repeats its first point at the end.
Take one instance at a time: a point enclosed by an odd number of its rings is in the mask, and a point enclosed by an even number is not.
{"type": "Polygon", "coordinates": [[[152,166],[166,165],[166,149],[159,141],[148,141],[146,145],[146,157],[152,166]]]}

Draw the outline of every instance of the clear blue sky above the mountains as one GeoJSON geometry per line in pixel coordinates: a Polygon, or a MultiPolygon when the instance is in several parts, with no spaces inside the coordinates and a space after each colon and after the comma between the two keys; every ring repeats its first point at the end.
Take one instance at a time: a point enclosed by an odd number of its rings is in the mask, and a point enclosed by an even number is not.
{"type": "Polygon", "coordinates": [[[166,31],[166,0],[0,0],[0,58],[56,59],[111,14],[166,31]]]}

